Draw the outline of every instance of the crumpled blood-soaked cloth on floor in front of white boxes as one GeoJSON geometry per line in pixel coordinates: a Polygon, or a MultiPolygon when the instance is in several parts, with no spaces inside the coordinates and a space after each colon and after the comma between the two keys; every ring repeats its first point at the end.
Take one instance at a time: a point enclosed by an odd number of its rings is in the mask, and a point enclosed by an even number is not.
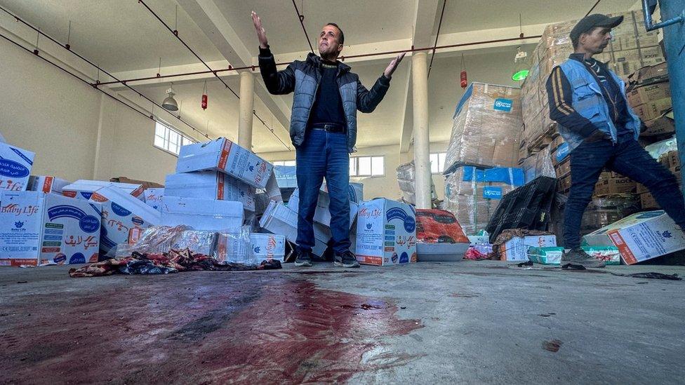
{"type": "Polygon", "coordinates": [[[72,278],[109,276],[121,274],[168,274],[178,271],[208,270],[208,271],[245,271],[281,269],[281,262],[264,260],[259,265],[227,263],[221,264],[208,255],[193,253],[186,250],[170,250],[163,254],[141,254],[133,252],[130,257],[121,259],[107,259],[83,266],[79,269],[69,269],[72,278]]]}

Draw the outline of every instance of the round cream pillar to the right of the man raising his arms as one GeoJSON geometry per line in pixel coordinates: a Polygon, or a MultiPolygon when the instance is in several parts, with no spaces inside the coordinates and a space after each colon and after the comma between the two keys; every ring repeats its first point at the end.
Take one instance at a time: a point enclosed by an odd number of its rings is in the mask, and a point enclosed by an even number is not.
{"type": "Polygon", "coordinates": [[[414,53],[411,57],[416,208],[431,208],[427,57],[425,52],[414,53]]]}

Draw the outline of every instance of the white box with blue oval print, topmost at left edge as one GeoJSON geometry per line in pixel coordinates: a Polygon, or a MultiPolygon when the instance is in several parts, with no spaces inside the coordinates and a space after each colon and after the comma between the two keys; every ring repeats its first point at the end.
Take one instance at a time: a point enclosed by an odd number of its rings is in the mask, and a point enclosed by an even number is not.
{"type": "Polygon", "coordinates": [[[0,191],[26,191],[35,154],[0,143],[0,191]]]}

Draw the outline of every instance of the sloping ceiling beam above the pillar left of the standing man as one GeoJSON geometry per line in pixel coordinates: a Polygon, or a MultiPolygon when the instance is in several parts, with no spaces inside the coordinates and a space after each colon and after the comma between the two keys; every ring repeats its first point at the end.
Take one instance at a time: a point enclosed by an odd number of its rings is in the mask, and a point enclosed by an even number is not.
{"type": "MultiPolygon", "coordinates": [[[[250,50],[241,41],[214,0],[178,0],[178,4],[232,66],[244,67],[254,64],[250,50]]],[[[255,47],[257,46],[256,40],[255,37],[255,47]]],[[[220,76],[230,76],[230,74],[237,74],[237,72],[225,72],[220,76]]],[[[281,123],[281,126],[289,127],[291,110],[288,105],[280,97],[271,95],[264,82],[256,81],[255,83],[255,93],[262,100],[262,103],[281,123]]],[[[281,136],[283,136],[282,133],[279,137],[281,136]]],[[[288,138],[288,136],[289,134],[286,134],[285,137],[288,138]]]]}

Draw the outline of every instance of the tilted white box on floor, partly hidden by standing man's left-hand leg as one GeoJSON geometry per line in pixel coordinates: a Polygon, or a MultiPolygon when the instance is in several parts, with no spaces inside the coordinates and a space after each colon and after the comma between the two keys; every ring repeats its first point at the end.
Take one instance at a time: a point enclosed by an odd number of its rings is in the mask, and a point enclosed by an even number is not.
{"type": "MultiPolygon", "coordinates": [[[[262,229],[285,236],[288,241],[296,243],[298,239],[298,213],[283,203],[271,201],[259,222],[262,229]]],[[[324,254],[326,244],[331,239],[331,231],[322,224],[314,223],[314,255],[324,254]]]]}

